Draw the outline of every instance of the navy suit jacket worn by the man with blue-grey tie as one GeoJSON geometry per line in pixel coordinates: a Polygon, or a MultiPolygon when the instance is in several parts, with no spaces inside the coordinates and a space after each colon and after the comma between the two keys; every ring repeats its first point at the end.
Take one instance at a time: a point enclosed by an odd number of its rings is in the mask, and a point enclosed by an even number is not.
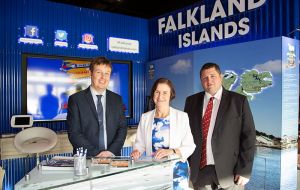
{"type": "MultiPolygon", "coordinates": [[[[106,90],[107,150],[119,156],[127,134],[121,96],[106,90]]],[[[74,153],[78,147],[87,149],[87,156],[96,156],[99,149],[99,123],[90,88],[73,94],[68,101],[68,136],[74,153]]]]}

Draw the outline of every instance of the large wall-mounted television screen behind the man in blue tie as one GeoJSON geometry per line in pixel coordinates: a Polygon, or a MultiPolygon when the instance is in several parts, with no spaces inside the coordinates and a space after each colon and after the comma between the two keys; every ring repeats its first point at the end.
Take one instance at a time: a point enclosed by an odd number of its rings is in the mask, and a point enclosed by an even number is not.
{"type": "MultiPolygon", "coordinates": [[[[91,84],[91,59],[24,54],[22,108],[34,120],[65,120],[68,97],[91,84]]],[[[108,89],[121,95],[126,117],[132,116],[131,61],[111,60],[108,89]]]]}

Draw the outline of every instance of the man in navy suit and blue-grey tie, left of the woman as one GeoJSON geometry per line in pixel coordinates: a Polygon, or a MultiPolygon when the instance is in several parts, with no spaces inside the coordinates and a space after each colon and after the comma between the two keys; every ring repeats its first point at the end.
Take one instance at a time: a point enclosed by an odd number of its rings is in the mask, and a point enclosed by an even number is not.
{"type": "Polygon", "coordinates": [[[111,62],[97,57],[90,64],[91,85],[70,96],[68,136],[76,148],[87,149],[87,156],[119,156],[127,134],[121,96],[107,90],[111,62]]]}

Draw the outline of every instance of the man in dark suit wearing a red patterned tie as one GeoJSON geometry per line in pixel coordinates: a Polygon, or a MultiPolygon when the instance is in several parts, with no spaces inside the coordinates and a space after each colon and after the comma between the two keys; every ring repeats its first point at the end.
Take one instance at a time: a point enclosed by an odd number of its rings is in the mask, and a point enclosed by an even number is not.
{"type": "Polygon", "coordinates": [[[196,144],[189,157],[194,189],[244,189],[256,137],[247,98],[222,87],[215,63],[202,66],[200,80],[205,91],[189,96],[184,108],[196,144]]]}

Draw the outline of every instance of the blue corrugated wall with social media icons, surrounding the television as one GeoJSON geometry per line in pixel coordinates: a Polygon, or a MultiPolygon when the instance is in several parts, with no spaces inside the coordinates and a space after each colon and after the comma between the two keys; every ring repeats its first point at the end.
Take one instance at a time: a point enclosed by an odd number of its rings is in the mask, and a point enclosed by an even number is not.
{"type": "MultiPolygon", "coordinates": [[[[21,55],[22,53],[59,55],[91,58],[106,56],[114,60],[133,62],[133,117],[128,124],[137,124],[144,111],[145,84],[144,63],[148,60],[148,21],[120,14],[58,4],[46,0],[4,0],[1,5],[0,31],[0,133],[16,133],[10,127],[10,118],[21,114],[21,55]],[[39,37],[44,45],[19,44],[24,35],[24,26],[39,28],[39,37]],[[68,48],[53,46],[54,31],[68,33],[68,48]],[[77,49],[84,33],[94,35],[99,50],[77,49]],[[107,48],[108,37],[119,37],[139,41],[140,53],[116,53],[107,48]]],[[[39,122],[35,125],[49,127],[56,131],[66,130],[65,122],[39,122]]]]}

